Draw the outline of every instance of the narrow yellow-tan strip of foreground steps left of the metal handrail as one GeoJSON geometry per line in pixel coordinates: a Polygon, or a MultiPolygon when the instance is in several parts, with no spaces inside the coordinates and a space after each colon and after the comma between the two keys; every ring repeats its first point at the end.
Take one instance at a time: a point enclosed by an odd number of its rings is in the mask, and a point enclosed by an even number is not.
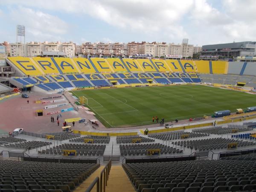
{"type": "MultiPolygon", "coordinates": [[[[73,192],[85,192],[87,187],[93,182],[96,177],[100,177],[100,172],[105,166],[100,166],[95,170],[81,185],[79,185],[73,192]]],[[[91,192],[96,192],[96,185],[93,187],[91,192]]]]}

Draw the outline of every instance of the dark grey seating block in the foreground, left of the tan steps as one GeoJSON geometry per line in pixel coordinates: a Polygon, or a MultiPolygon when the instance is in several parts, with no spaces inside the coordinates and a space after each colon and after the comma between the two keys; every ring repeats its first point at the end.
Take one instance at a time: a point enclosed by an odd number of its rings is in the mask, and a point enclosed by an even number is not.
{"type": "Polygon", "coordinates": [[[70,192],[99,166],[95,163],[0,160],[0,190],[1,192],[60,192],[61,190],[70,192]]]}

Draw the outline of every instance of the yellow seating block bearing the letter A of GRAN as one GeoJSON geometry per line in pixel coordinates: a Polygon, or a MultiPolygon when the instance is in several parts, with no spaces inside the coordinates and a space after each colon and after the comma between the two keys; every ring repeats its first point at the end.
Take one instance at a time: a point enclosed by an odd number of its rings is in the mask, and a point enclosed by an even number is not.
{"type": "Polygon", "coordinates": [[[70,58],[55,57],[54,62],[60,73],[80,73],[70,58]]]}

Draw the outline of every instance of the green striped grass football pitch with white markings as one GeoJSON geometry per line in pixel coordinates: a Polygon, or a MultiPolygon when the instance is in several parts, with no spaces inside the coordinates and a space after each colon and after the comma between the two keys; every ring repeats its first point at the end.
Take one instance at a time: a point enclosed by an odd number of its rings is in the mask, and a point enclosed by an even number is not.
{"type": "Polygon", "coordinates": [[[87,107],[107,128],[152,124],[153,116],[167,122],[256,106],[256,96],[252,94],[203,85],[78,90],[72,93],[77,97],[85,96],[87,107]]]}

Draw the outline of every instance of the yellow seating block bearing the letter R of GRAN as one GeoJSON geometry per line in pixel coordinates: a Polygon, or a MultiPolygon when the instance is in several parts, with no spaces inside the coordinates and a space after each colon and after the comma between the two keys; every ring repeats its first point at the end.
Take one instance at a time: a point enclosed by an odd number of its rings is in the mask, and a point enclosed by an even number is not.
{"type": "Polygon", "coordinates": [[[45,74],[60,74],[52,58],[49,57],[33,57],[35,63],[41,68],[45,74]]]}

